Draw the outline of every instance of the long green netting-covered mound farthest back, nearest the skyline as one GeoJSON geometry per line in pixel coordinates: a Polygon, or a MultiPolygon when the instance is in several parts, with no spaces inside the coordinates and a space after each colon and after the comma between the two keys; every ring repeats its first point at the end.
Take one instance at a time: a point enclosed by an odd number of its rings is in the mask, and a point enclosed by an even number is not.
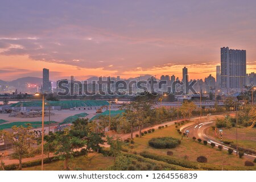
{"type": "MultiPolygon", "coordinates": [[[[96,100],[86,100],[86,101],[47,101],[51,106],[61,106],[61,109],[70,109],[72,107],[91,107],[91,106],[105,106],[109,105],[107,101],[96,101],[96,100]]],[[[28,101],[28,102],[18,102],[11,104],[11,107],[40,107],[42,106],[42,101],[28,101]]]]}

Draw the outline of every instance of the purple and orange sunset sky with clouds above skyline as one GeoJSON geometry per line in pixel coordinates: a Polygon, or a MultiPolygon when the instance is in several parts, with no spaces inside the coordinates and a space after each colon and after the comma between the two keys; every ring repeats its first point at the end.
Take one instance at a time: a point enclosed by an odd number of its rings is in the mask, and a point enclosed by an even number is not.
{"type": "Polygon", "coordinates": [[[0,2],[0,80],[216,75],[220,48],[256,71],[256,1],[0,2]]]}

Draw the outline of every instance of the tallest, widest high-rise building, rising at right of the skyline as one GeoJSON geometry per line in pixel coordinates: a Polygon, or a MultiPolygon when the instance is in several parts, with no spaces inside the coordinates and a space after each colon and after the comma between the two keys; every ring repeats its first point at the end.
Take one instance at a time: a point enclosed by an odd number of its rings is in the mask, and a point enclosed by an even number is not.
{"type": "Polygon", "coordinates": [[[246,51],[221,48],[221,87],[242,88],[246,85],[246,51]]]}

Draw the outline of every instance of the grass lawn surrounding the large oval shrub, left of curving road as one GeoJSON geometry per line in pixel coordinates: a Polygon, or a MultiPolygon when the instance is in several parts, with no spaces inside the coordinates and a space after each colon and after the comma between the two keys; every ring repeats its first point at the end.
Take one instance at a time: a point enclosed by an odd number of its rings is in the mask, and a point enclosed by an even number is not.
{"type": "MultiPolygon", "coordinates": [[[[134,138],[134,149],[132,151],[142,152],[148,151],[158,155],[166,155],[167,151],[174,152],[174,157],[179,159],[185,159],[196,162],[196,158],[200,155],[206,156],[208,163],[222,164],[222,158],[224,159],[224,165],[230,166],[244,166],[245,158],[239,159],[236,155],[228,155],[227,151],[219,151],[217,147],[212,148],[208,144],[204,146],[203,142],[200,144],[192,139],[183,138],[181,144],[172,149],[156,149],[148,146],[148,140],[154,137],[174,137],[181,139],[181,135],[177,133],[174,125],[165,127],[161,130],[155,130],[154,133],[146,134],[142,138],[134,138]]],[[[254,167],[256,169],[256,167],[254,167]]]]}

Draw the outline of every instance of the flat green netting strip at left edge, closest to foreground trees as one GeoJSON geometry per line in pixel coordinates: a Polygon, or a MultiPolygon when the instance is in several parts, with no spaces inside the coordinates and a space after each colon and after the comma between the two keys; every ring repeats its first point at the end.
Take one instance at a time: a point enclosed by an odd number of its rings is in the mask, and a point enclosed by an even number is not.
{"type": "MultiPolygon", "coordinates": [[[[0,125],[0,130],[3,129],[11,129],[11,127],[13,126],[23,126],[23,127],[27,127],[27,124],[30,123],[30,126],[37,128],[37,127],[42,127],[42,121],[28,121],[28,122],[21,122],[21,121],[17,121],[17,122],[12,122],[12,123],[7,123],[7,124],[3,124],[0,125]]],[[[44,125],[48,125],[48,121],[44,121],[44,125]]],[[[50,123],[56,123],[55,121],[50,121],[50,123]]]]}

